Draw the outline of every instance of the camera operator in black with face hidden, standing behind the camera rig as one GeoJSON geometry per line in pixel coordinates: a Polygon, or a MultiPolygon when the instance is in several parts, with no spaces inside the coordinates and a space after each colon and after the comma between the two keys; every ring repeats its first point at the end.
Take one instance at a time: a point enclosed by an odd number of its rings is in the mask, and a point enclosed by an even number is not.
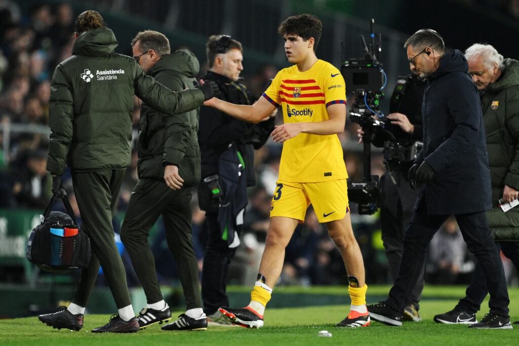
{"type": "MultiPolygon", "coordinates": [[[[386,125],[386,130],[391,132],[395,139],[391,139],[389,134],[382,131],[375,131],[372,139],[372,143],[376,147],[384,147],[386,143],[385,154],[391,150],[389,146],[395,142],[404,147],[410,147],[416,141],[421,141],[421,105],[425,86],[426,82],[420,80],[414,73],[398,78],[397,86],[391,95],[390,114],[387,116],[391,123],[386,125]]],[[[363,135],[364,132],[360,127],[358,130],[359,143],[362,142],[363,135]]],[[[382,241],[386,249],[389,273],[393,283],[397,279],[402,258],[404,230],[411,221],[413,207],[419,192],[418,189],[411,188],[407,181],[407,171],[411,168],[412,160],[414,157],[409,160],[386,158],[384,160],[386,172],[380,178],[382,241]]],[[[411,295],[411,301],[404,309],[405,321],[421,321],[418,314],[418,302],[422,289],[424,289],[423,269],[411,295]]]]}

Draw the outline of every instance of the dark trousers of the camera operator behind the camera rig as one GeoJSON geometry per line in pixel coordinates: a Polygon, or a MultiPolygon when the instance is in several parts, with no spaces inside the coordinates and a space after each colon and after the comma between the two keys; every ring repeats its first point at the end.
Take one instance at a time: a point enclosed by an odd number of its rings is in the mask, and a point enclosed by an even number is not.
{"type": "MultiPolygon", "coordinates": [[[[400,260],[404,250],[404,230],[411,222],[413,210],[418,198],[419,189],[411,188],[405,179],[406,170],[400,167],[391,173],[386,171],[380,178],[382,198],[380,203],[380,219],[382,222],[382,241],[388,258],[389,273],[393,284],[397,280],[400,260]],[[394,181],[393,181],[393,179],[394,181]]],[[[420,269],[418,281],[409,299],[416,310],[420,308],[419,301],[424,290],[425,262],[420,269]]],[[[407,305],[407,304],[406,304],[407,305]]]]}

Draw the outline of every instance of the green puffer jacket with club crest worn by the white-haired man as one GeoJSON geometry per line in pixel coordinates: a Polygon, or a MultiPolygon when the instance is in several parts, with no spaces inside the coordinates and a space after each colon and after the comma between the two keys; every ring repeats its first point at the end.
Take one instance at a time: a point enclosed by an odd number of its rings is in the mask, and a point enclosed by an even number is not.
{"type": "Polygon", "coordinates": [[[487,216],[495,240],[519,241],[519,206],[506,213],[498,206],[505,184],[519,190],[519,62],[505,59],[504,65],[481,97],[494,206],[487,216]]]}

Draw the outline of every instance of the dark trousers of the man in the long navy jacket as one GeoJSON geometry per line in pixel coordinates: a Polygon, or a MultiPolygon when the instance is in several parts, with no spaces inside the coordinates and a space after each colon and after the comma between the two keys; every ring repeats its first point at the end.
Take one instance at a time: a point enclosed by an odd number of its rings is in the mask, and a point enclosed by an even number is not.
{"type": "MultiPolygon", "coordinates": [[[[424,198],[420,199],[411,223],[405,230],[404,252],[397,281],[389,291],[387,303],[397,311],[403,311],[416,285],[421,266],[424,265],[429,243],[449,216],[427,215],[425,204],[424,198]]],[[[488,228],[486,212],[457,214],[455,217],[469,251],[474,254],[485,275],[490,293],[490,313],[508,316],[510,300],[507,283],[499,251],[488,228]]]]}

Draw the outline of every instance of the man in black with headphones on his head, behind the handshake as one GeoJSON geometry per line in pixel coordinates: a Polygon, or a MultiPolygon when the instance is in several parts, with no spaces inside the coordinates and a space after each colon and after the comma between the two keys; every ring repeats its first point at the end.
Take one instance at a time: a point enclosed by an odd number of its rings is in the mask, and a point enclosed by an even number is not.
{"type": "MultiPolygon", "coordinates": [[[[252,105],[256,98],[244,85],[237,82],[243,70],[242,52],[241,43],[228,35],[209,37],[206,44],[209,71],[202,79],[206,82],[214,81],[221,87],[218,94],[221,100],[252,105]]],[[[274,115],[275,112],[271,114],[274,115]]],[[[253,124],[235,119],[212,107],[202,106],[200,109],[198,140],[201,151],[202,182],[198,186],[198,203],[200,209],[206,211],[205,227],[208,234],[207,250],[203,258],[202,299],[204,312],[208,316],[210,325],[231,325],[222,319],[218,308],[229,305],[225,293],[227,270],[239,244],[235,227],[228,229],[221,227],[222,217],[219,215],[223,214],[224,207],[219,205],[218,195],[212,193],[216,191],[214,187],[220,190],[218,186],[218,179],[222,178],[222,172],[219,172],[218,168],[218,164],[221,164],[220,157],[228,152],[230,145],[235,146],[243,158],[246,185],[254,186],[256,184],[254,149],[260,148],[273,130],[273,117],[253,124]]],[[[238,186],[230,203],[234,204],[235,212],[244,209],[247,205],[245,184],[238,186]]],[[[230,225],[234,224],[229,221],[230,225]]]]}

